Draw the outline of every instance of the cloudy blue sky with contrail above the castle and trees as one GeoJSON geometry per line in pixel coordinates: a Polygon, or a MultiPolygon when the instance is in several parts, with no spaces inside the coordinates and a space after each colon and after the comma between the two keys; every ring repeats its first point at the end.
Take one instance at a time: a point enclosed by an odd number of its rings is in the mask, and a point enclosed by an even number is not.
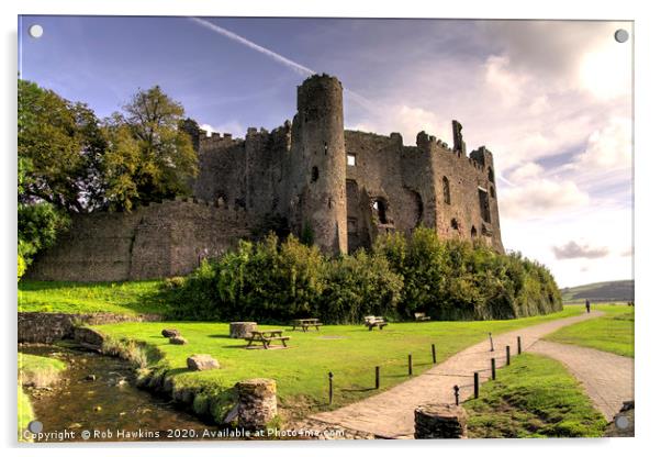
{"type": "Polygon", "coordinates": [[[23,16],[20,71],[99,116],[159,85],[243,135],[295,112],[301,67],[345,89],[349,129],[421,130],[495,156],[503,242],[560,286],[631,278],[630,23],[23,16]],[[44,35],[31,38],[38,23],[44,35]],[[219,29],[220,27],[220,29],[219,29]],[[228,34],[237,36],[228,36],[228,34]]]}

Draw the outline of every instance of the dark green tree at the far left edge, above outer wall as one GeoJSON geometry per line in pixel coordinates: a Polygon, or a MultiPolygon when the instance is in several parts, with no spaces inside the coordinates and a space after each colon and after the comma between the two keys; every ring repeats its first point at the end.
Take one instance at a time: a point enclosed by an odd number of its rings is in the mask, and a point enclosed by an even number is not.
{"type": "Polygon", "coordinates": [[[19,200],[79,213],[101,205],[105,143],[93,111],[20,79],[18,118],[19,200]]]}

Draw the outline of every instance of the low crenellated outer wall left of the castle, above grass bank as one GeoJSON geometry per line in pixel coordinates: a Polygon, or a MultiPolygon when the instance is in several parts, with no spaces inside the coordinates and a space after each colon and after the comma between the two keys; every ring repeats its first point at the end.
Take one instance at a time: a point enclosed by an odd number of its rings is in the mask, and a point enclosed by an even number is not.
{"type": "Polygon", "coordinates": [[[35,258],[27,277],[122,281],[184,275],[202,258],[219,256],[249,237],[254,225],[243,210],[192,201],[76,215],[56,245],[35,258]]]}

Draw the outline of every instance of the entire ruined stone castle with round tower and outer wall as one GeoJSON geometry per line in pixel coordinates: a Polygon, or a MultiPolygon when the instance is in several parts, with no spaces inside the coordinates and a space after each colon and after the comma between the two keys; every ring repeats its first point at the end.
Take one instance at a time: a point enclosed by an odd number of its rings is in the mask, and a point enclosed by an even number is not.
{"type": "Polygon", "coordinates": [[[298,88],[298,112],[245,138],[187,131],[199,155],[192,199],[131,213],[74,218],[71,230],[37,257],[29,276],[43,280],[117,281],[190,272],[267,221],[309,234],[327,254],[369,247],[382,233],[419,225],[439,238],[481,238],[503,252],[493,156],[467,156],[461,124],[450,148],[421,132],[415,146],[344,126],[343,87],[314,75],[298,88]]]}

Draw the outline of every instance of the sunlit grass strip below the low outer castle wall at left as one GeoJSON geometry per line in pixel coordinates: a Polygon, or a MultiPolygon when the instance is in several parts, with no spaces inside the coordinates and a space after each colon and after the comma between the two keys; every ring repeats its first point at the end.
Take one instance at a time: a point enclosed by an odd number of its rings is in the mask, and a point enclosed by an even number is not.
{"type": "Polygon", "coordinates": [[[19,311],[160,314],[160,280],[127,282],[19,282],[19,311]]]}

